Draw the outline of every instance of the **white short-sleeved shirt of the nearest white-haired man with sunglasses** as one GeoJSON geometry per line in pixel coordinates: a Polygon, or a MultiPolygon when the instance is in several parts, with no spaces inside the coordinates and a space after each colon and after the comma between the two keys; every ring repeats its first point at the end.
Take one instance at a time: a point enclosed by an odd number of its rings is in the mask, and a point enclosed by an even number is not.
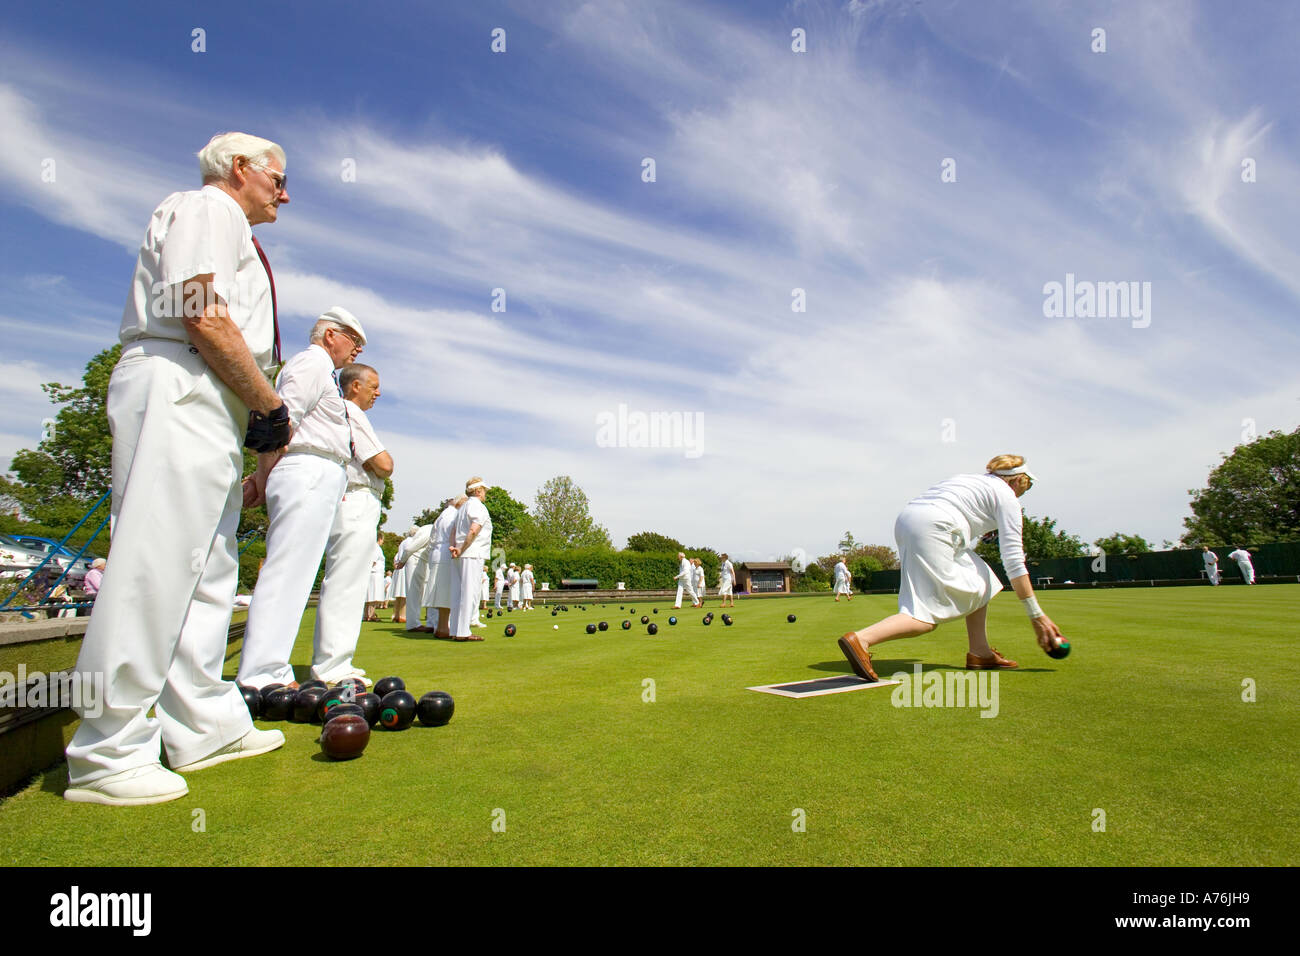
{"type": "MultiPolygon", "coordinates": [[[[208,273],[257,367],[269,371],[276,342],[270,280],[252,245],[248,217],[216,186],[173,193],[153,211],[122,312],[122,345],[139,338],[188,342],[182,284],[208,273]]],[[[191,311],[203,310],[191,303],[191,311]]]]}

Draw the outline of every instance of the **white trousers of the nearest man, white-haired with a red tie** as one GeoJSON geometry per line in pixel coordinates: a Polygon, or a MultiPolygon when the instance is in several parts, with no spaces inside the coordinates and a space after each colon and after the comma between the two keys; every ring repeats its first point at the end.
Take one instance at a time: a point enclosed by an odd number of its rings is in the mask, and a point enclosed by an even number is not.
{"type": "Polygon", "coordinates": [[[252,730],[221,679],[247,423],[185,342],[144,339],[113,369],[112,558],[77,659],[101,697],[68,745],[74,787],[157,763],[160,747],[190,763],[252,730]]]}

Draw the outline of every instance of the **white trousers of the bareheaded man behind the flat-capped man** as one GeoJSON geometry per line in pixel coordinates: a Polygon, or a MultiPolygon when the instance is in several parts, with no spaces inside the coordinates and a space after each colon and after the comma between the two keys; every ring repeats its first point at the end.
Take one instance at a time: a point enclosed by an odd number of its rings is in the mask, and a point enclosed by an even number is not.
{"type": "Polygon", "coordinates": [[[368,488],[348,490],[334,514],[325,544],[325,576],[312,636],[312,676],[326,684],[352,672],[378,527],[380,499],[368,488]]]}

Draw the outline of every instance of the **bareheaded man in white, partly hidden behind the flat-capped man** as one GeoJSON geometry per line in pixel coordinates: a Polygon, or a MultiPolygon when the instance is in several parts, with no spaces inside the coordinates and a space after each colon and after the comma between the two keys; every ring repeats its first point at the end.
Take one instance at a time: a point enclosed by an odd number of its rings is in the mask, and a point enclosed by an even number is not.
{"type": "MultiPolygon", "coordinates": [[[[373,555],[378,549],[376,529],[384,479],[393,473],[393,455],[385,450],[367,415],[380,397],[380,373],[354,362],[339,371],[338,384],[347,402],[354,451],[346,466],[347,488],[325,544],[325,576],[312,636],[312,678],[326,684],[337,684],[344,678],[365,679],[365,671],[352,666],[352,656],[361,635],[368,575],[373,574],[373,555]]],[[[378,554],[382,564],[384,551],[378,554]]]]}

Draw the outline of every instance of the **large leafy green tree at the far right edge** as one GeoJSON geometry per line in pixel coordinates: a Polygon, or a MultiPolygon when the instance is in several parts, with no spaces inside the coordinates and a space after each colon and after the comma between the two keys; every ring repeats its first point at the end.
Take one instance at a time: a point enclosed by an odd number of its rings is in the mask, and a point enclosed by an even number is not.
{"type": "Polygon", "coordinates": [[[1205,488],[1188,494],[1184,548],[1300,538],[1300,428],[1238,445],[1210,471],[1205,488]]]}

